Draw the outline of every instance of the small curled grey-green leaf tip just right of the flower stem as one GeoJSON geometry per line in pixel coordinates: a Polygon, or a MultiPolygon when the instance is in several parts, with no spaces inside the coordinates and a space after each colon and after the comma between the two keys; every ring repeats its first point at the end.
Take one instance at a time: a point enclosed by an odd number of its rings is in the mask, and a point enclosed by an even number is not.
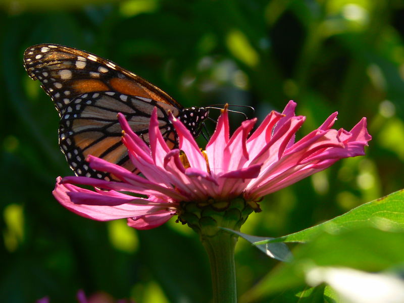
{"type": "MultiPolygon", "coordinates": [[[[222,227],[222,229],[226,229],[229,232],[235,233],[250,243],[254,243],[254,242],[262,241],[262,240],[273,239],[273,238],[269,238],[269,237],[251,236],[251,235],[247,235],[242,232],[239,232],[239,231],[235,231],[235,230],[231,230],[231,229],[223,228],[223,227],[222,227]]],[[[265,243],[265,244],[257,245],[257,248],[260,249],[262,252],[264,252],[264,254],[266,254],[267,256],[269,256],[273,259],[279,260],[279,261],[288,262],[292,258],[290,250],[286,246],[285,243],[265,243]]]]}

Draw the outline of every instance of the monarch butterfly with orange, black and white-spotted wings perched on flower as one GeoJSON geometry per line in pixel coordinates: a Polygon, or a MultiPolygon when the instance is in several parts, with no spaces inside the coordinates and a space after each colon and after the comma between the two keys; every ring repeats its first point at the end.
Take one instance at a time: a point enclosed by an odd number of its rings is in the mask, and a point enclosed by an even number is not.
{"type": "Polygon", "coordinates": [[[136,169],[121,142],[117,114],[125,115],[133,129],[148,144],[148,124],[156,107],[160,129],[170,147],[177,144],[168,112],[197,136],[208,118],[205,108],[183,108],[171,96],[115,63],[58,44],[38,44],[24,52],[28,75],[41,82],[61,117],[59,146],[70,168],[78,176],[110,180],[85,162],[93,155],[136,169]]]}

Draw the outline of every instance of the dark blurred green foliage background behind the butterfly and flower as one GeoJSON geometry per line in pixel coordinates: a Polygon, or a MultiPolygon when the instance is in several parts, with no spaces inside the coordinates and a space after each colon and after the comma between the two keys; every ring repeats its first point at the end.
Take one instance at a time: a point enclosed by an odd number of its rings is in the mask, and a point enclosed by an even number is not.
{"type": "MultiPolygon", "coordinates": [[[[368,117],[366,157],[266,197],[244,233],[281,236],[404,187],[402,1],[2,0],[0,9],[1,301],[74,302],[78,289],[136,302],[211,298],[208,260],[188,227],[94,222],[53,198],[56,177],[72,173],[57,112],[23,68],[32,44],[108,58],[185,107],[250,105],[262,120],[293,99],[308,117],[300,137],[334,111],[347,130],[368,117]]],[[[240,239],[239,294],[277,264],[240,239]]]]}

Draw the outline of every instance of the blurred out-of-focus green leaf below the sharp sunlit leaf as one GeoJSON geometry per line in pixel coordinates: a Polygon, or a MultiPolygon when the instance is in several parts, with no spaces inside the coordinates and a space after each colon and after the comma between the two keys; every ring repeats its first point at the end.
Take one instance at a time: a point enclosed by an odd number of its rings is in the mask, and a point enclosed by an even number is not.
{"type": "Polygon", "coordinates": [[[369,272],[387,270],[404,264],[403,250],[404,233],[370,227],[340,234],[324,232],[309,243],[299,245],[290,263],[273,270],[242,298],[252,302],[303,286],[307,273],[318,267],[349,267],[369,272]]]}

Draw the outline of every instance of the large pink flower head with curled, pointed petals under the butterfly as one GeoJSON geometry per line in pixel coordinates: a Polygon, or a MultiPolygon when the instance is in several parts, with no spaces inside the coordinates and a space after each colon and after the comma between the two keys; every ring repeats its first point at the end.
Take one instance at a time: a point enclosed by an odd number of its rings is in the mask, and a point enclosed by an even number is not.
{"type": "Polygon", "coordinates": [[[335,130],[331,127],[337,113],[333,113],[318,129],[294,142],[296,131],[306,119],[295,116],[295,107],[290,101],[282,114],[271,112],[251,135],[257,119],[244,121],[231,137],[227,111],[223,110],[204,153],[186,127],[172,116],[179,149],[170,150],[159,131],[156,111],[150,120],[150,146],[119,115],[123,143],[144,177],[89,156],[91,168],[109,172],[122,182],[59,177],[54,196],[83,217],[99,221],[128,218],[128,225],[137,229],[160,226],[190,201],[242,197],[258,211],[257,202],[264,195],[324,170],[339,159],[364,155],[364,146],[371,140],[366,118],[350,131],[335,130]],[[181,161],[180,150],[189,165],[181,161]],[[92,185],[95,191],[73,183],[92,185]],[[139,194],[148,197],[134,196],[139,194]]]}

